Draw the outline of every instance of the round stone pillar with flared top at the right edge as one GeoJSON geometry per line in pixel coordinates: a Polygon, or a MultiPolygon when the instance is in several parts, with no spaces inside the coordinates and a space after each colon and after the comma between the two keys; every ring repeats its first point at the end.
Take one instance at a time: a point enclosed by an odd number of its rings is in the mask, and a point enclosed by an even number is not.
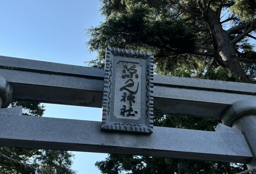
{"type": "Polygon", "coordinates": [[[253,159],[246,163],[248,169],[256,166],[256,100],[233,103],[222,115],[222,123],[240,129],[251,148],[253,159]]]}

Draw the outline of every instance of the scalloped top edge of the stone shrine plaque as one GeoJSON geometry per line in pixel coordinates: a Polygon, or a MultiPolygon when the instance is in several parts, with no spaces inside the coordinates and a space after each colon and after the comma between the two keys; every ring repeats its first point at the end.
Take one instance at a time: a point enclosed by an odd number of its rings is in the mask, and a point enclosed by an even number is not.
{"type": "Polygon", "coordinates": [[[107,47],[113,55],[115,56],[126,56],[126,57],[135,57],[135,58],[143,58],[147,59],[150,56],[153,56],[153,53],[148,53],[144,51],[134,51],[134,50],[126,50],[126,49],[118,49],[118,48],[109,48],[107,47]]]}

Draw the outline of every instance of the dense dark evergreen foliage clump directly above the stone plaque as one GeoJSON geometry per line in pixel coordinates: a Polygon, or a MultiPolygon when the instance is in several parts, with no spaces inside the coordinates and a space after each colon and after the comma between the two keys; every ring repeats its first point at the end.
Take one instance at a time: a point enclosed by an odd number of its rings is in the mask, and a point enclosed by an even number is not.
{"type": "MultiPolygon", "coordinates": [[[[109,4],[106,8],[109,8],[109,4]]],[[[105,59],[107,46],[151,51],[156,61],[166,59],[174,63],[182,57],[172,51],[194,49],[195,36],[181,20],[174,20],[171,16],[163,18],[158,14],[158,9],[148,4],[134,1],[125,1],[125,4],[124,13],[114,11],[105,22],[86,30],[90,37],[86,43],[89,50],[98,51],[97,60],[89,62],[93,66],[105,59]]]]}

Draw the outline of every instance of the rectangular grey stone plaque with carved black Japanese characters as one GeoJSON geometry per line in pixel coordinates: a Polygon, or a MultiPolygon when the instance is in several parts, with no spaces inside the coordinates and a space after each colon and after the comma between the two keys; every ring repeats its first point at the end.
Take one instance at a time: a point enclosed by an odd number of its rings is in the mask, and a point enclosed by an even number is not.
{"type": "Polygon", "coordinates": [[[153,53],[107,48],[104,130],[153,133],[153,53]]]}

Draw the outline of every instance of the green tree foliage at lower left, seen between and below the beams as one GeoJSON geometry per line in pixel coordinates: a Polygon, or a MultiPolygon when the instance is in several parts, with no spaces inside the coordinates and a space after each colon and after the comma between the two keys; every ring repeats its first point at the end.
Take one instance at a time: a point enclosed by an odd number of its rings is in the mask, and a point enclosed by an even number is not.
{"type": "MultiPolygon", "coordinates": [[[[23,115],[43,116],[45,106],[38,102],[13,101],[9,107],[23,107],[23,115]]],[[[71,169],[71,152],[59,150],[40,150],[17,147],[0,147],[0,152],[10,158],[16,159],[22,163],[39,167],[40,169],[58,174],[76,174],[71,169]]],[[[23,167],[7,159],[0,158],[0,174],[33,174],[34,170],[23,167]]]]}

